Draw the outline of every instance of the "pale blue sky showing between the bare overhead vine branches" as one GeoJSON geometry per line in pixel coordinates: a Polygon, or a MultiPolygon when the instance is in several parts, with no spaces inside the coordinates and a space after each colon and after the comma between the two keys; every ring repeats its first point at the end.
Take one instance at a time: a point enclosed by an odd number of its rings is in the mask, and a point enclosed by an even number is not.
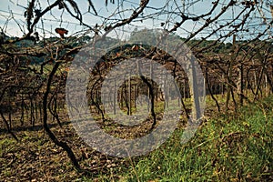
{"type": "MultiPolygon", "coordinates": [[[[159,1],[159,0],[150,0],[148,6],[149,7],[162,7],[168,3],[168,6],[165,8],[165,11],[171,11],[171,9],[176,8],[176,5],[182,5],[183,0],[166,0],[166,1],[159,1]]],[[[26,27],[25,27],[25,7],[27,6],[27,0],[1,0],[0,1],[0,27],[4,29],[5,33],[10,36],[22,36],[24,35],[24,32],[26,32],[26,27]],[[12,14],[11,14],[12,13],[12,14]],[[8,20],[8,21],[7,21],[8,20]]],[[[39,5],[36,5],[35,8],[41,8],[45,9],[47,5],[52,4],[55,2],[54,0],[40,0],[39,5]]],[[[130,15],[135,9],[135,7],[138,5],[139,1],[131,0],[131,1],[121,1],[123,2],[122,6],[117,8],[117,5],[113,5],[108,3],[108,5],[105,5],[105,1],[102,0],[93,0],[92,2],[95,5],[96,11],[98,15],[103,16],[98,17],[95,15],[92,15],[93,11],[91,9],[91,14],[87,13],[88,10],[88,5],[87,5],[87,0],[78,0],[76,1],[78,3],[78,6],[80,10],[82,11],[83,16],[84,16],[84,21],[86,22],[87,25],[104,25],[105,23],[108,24],[109,20],[106,21],[106,17],[109,18],[120,18],[120,17],[127,17],[130,15]],[[116,12],[118,10],[126,10],[122,14],[119,14],[117,16],[111,16],[113,15],[113,12],[116,12]]],[[[118,0],[116,0],[118,2],[118,0]]],[[[197,2],[196,4],[193,5],[187,5],[188,8],[186,9],[187,14],[195,14],[195,15],[202,15],[206,13],[211,7],[212,7],[212,0],[185,0],[186,5],[187,4],[193,4],[194,2],[197,2]]],[[[220,1],[221,4],[227,4],[229,1],[227,0],[222,0],[220,1]]],[[[217,8],[217,13],[220,11],[222,6],[219,6],[217,8]]],[[[232,18],[233,15],[236,15],[241,9],[241,7],[230,9],[225,15],[221,16],[221,19],[218,21],[225,21],[225,19],[230,19],[232,18]]],[[[140,22],[136,21],[132,25],[127,25],[123,28],[123,31],[125,32],[131,32],[135,28],[141,29],[144,27],[147,28],[162,28],[160,25],[161,23],[165,23],[167,19],[171,20],[170,22],[177,22],[180,21],[181,18],[178,15],[175,14],[166,14],[165,12],[162,11],[162,14],[160,15],[154,15],[156,10],[153,8],[147,8],[146,12],[144,12],[147,15],[151,15],[149,18],[146,20],[140,22]]],[[[158,11],[157,11],[158,12],[158,11]]],[[[271,17],[269,12],[264,11],[267,17],[271,17]]],[[[261,32],[263,28],[265,28],[265,25],[263,24],[263,21],[261,18],[258,18],[256,16],[260,16],[258,12],[256,14],[252,15],[252,24],[249,25],[249,28],[253,29],[253,32],[261,32]],[[255,19],[256,17],[256,19],[255,19]],[[251,27],[252,26],[252,27],[251,27]]],[[[271,17],[272,18],[272,17],[271,17]]],[[[110,20],[111,21],[111,20],[110,20]]],[[[114,21],[114,20],[113,20],[114,21]]],[[[187,37],[190,33],[194,32],[197,30],[198,27],[203,25],[205,23],[205,20],[200,19],[197,22],[192,22],[192,21],[187,21],[186,24],[182,25],[180,29],[177,30],[177,34],[182,36],[182,37],[187,37]]],[[[217,24],[217,23],[216,23],[217,24]]],[[[166,24],[167,25],[167,24],[166,24]]],[[[173,26],[173,24],[167,25],[169,27],[173,26]]],[[[78,32],[81,32],[85,30],[85,27],[82,25],[79,25],[78,22],[76,22],[75,19],[73,19],[70,15],[63,13],[62,10],[59,10],[58,8],[55,8],[50,14],[47,14],[43,18],[43,24],[40,22],[37,26],[35,31],[39,32],[39,34],[45,34],[46,37],[48,36],[57,36],[55,33],[55,28],[56,27],[64,27],[69,30],[69,35],[74,35],[77,34],[78,32]],[[61,21],[62,19],[62,21],[61,21]],[[42,31],[42,30],[45,31],[42,31]]],[[[215,25],[215,28],[217,25],[215,25]]],[[[214,25],[211,25],[211,28],[214,28],[214,25]]],[[[211,29],[212,30],[212,29],[211,29]]],[[[197,37],[201,36],[206,36],[206,34],[211,31],[208,29],[207,31],[201,32],[197,37]]],[[[272,26],[271,26],[271,33],[272,33],[272,26]]],[[[115,32],[113,33],[115,34],[115,32]]],[[[217,34],[221,34],[218,32],[217,34]]],[[[217,37],[217,34],[215,35],[217,37]]],[[[251,33],[249,32],[249,35],[251,33]]]]}

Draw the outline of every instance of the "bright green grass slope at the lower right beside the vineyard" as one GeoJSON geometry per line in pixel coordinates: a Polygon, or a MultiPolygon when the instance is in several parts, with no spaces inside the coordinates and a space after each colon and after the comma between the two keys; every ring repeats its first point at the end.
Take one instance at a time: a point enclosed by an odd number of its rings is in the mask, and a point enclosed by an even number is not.
{"type": "MultiPolygon", "coordinates": [[[[133,158],[120,181],[272,181],[273,97],[207,120],[185,145],[183,130],[147,157],[133,158]]],[[[101,176],[100,181],[108,181],[101,176]]]]}

